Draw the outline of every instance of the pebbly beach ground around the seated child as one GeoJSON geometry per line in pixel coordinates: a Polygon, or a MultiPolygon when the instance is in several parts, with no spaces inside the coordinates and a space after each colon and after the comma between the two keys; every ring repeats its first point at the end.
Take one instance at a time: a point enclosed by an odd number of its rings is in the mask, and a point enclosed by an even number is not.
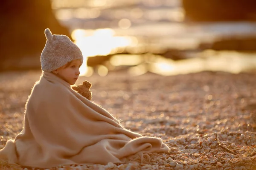
{"type": "MultiPolygon", "coordinates": [[[[24,105],[40,74],[0,73],[0,148],[22,130],[24,105]]],[[[121,119],[126,128],[161,137],[170,153],[151,164],[73,169],[256,169],[256,74],[131,77],[113,72],[106,77],[80,77],[78,84],[84,80],[93,84],[94,102],[121,119]]]]}

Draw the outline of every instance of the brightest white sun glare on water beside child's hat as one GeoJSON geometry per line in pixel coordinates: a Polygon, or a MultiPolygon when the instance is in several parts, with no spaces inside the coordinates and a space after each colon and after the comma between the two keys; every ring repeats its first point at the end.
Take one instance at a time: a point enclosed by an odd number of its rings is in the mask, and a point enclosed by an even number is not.
{"type": "MultiPolygon", "coordinates": [[[[88,57],[114,54],[118,48],[137,45],[137,40],[134,40],[134,37],[115,36],[115,31],[110,28],[96,30],[76,29],[71,36],[84,56],[84,63],[80,68],[81,76],[87,73],[86,62],[88,57]]],[[[102,71],[99,72],[102,73],[102,71]]],[[[101,75],[105,75],[105,73],[101,75]]]]}

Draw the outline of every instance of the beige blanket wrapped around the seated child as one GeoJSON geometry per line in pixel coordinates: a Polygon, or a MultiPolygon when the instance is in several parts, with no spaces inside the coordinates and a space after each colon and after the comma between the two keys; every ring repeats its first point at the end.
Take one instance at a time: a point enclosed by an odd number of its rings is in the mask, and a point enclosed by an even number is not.
{"type": "Polygon", "coordinates": [[[103,108],[44,72],[26,104],[24,128],[0,159],[27,167],[126,163],[139,153],[164,153],[160,138],[131,132],[103,108]]]}

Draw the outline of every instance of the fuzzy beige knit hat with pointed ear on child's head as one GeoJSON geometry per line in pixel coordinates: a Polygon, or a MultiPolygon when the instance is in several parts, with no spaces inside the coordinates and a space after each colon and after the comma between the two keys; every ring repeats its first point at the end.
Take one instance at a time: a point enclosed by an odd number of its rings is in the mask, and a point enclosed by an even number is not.
{"type": "Polygon", "coordinates": [[[49,28],[45,29],[46,43],[41,53],[41,67],[43,71],[54,71],[57,68],[80,59],[83,63],[83,55],[79,47],[66,35],[52,35],[49,28]]]}

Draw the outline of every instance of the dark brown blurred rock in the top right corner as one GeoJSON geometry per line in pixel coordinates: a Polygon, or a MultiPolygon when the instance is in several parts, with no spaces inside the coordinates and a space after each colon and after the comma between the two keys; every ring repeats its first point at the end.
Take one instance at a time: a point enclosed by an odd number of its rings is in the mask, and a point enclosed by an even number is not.
{"type": "Polygon", "coordinates": [[[256,21],[256,0],[182,0],[186,19],[192,21],[256,21]]]}

